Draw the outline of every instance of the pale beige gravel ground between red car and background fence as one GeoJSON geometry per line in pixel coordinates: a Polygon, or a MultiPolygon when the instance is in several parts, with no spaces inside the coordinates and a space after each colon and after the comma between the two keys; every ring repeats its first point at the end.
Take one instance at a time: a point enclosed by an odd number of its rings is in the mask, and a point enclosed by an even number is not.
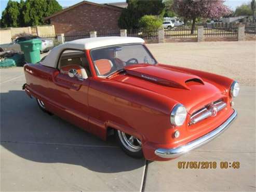
{"type": "Polygon", "coordinates": [[[255,86],[255,41],[148,44],[160,63],[216,73],[255,86]],[[168,54],[166,53],[168,52],[168,54]]]}

